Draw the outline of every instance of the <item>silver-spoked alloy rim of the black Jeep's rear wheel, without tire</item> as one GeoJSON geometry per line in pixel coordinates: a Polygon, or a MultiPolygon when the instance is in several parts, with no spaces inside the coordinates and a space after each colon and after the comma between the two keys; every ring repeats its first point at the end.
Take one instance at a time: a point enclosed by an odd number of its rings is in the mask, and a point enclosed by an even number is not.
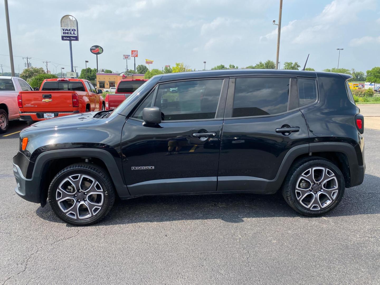
{"type": "Polygon", "coordinates": [[[306,209],[324,209],[331,205],[338,195],[336,174],[323,166],[309,168],[299,176],[295,194],[298,202],[306,209]]]}

